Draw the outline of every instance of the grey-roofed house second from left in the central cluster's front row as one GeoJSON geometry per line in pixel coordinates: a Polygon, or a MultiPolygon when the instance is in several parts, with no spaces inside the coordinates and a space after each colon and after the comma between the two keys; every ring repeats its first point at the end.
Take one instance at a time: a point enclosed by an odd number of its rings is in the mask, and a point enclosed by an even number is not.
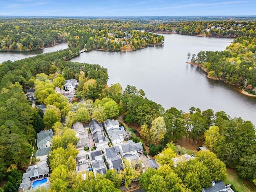
{"type": "Polygon", "coordinates": [[[94,172],[94,176],[96,176],[97,173],[102,174],[102,175],[106,174],[107,167],[103,160],[102,150],[91,151],[90,159],[91,159],[92,170],[94,172]]]}

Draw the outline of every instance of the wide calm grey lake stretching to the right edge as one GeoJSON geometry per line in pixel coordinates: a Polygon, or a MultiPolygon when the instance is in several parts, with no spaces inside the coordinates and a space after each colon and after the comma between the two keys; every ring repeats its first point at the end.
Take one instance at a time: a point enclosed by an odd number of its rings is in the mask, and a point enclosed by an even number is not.
{"type": "Polygon", "coordinates": [[[186,64],[187,53],[221,51],[233,39],[164,34],[162,46],[132,52],[90,51],[71,61],[100,64],[108,69],[108,85],[120,82],[123,89],[134,85],[148,99],[165,109],[188,112],[191,106],[214,112],[224,110],[256,124],[256,98],[245,96],[235,86],[211,80],[205,72],[186,64]]]}

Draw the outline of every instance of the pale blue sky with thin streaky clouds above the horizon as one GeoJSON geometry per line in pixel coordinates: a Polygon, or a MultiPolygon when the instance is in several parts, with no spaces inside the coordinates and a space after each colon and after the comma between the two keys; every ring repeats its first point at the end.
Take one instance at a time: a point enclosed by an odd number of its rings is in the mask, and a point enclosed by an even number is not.
{"type": "Polygon", "coordinates": [[[256,0],[0,0],[1,16],[256,15],[256,0]]]}

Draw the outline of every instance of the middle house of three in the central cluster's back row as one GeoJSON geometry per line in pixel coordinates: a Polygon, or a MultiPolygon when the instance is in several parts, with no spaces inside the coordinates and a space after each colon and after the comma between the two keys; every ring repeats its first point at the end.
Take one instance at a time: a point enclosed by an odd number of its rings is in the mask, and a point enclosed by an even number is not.
{"type": "Polygon", "coordinates": [[[104,136],[103,126],[96,120],[89,122],[92,138],[96,148],[108,145],[108,138],[104,136]]]}

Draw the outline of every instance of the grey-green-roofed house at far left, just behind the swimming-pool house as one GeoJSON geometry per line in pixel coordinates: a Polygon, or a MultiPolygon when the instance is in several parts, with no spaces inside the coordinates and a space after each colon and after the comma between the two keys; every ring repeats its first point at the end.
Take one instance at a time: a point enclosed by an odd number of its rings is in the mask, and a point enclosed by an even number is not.
{"type": "Polygon", "coordinates": [[[50,146],[51,140],[53,137],[52,130],[42,130],[37,134],[37,151],[36,151],[36,159],[46,162],[47,156],[51,150],[50,146]]]}

